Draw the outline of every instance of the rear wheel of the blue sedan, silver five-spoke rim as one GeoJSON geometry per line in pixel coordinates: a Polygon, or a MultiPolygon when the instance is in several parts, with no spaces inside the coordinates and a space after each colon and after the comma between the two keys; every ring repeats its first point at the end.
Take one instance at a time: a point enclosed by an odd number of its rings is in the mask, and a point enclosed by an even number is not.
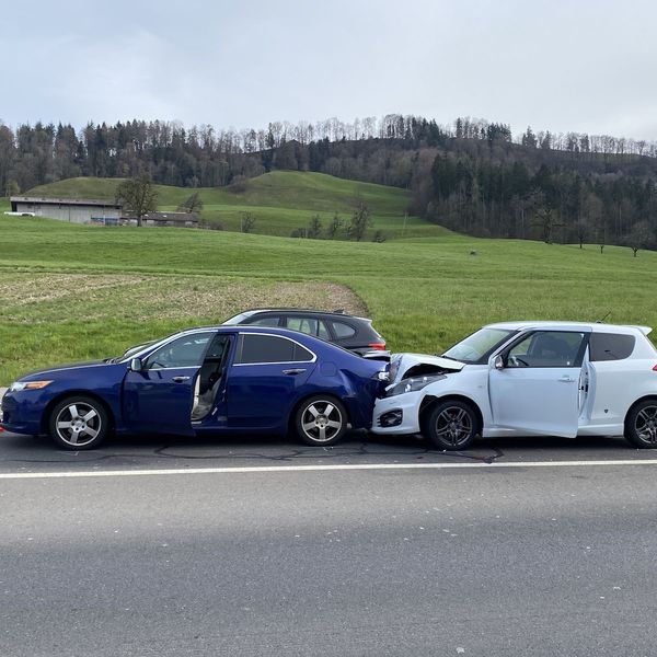
{"type": "Polygon", "coordinates": [[[295,431],[306,445],[333,445],[346,430],[347,411],[342,402],[331,395],[309,397],[295,413],[295,431]]]}

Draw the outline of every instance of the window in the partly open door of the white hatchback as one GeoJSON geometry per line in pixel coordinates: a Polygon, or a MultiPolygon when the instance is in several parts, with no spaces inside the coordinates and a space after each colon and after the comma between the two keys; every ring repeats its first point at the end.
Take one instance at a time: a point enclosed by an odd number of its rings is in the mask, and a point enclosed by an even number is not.
{"type": "Polygon", "coordinates": [[[516,343],[507,355],[507,367],[578,367],[585,333],[537,331],[516,343]]]}

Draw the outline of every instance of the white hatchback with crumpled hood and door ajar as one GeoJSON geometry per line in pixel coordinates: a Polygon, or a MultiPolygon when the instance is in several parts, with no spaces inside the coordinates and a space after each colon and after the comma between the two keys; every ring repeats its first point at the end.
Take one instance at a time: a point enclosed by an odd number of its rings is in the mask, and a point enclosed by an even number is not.
{"type": "Polygon", "coordinates": [[[442,356],[399,354],[376,434],[458,450],[477,435],[625,436],[657,448],[657,350],[647,326],[489,324],[442,356]]]}

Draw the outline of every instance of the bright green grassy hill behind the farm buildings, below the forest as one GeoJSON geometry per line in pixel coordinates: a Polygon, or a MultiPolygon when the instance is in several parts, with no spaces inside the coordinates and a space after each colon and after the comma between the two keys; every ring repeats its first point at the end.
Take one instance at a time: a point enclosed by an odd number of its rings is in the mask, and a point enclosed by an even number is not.
{"type": "MultiPolygon", "coordinates": [[[[62,198],[114,198],[116,178],[70,178],[30,189],[35,196],[62,198]]],[[[382,230],[387,239],[440,235],[445,229],[417,217],[404,218],[408,192],[396,187],[345,181],[323,173],[274,171],[245,183],[240,192],[227,187],[171,187],[155,185],[158,205],[162,210],[176,207],[198,192],[204,201],[203,219],[219,222],[226,230],[239,231],[243,212],[255,218],[255,233],[289,237],[292,230],[308,226],[319,214],[324,228],[339,212],[348,221],[356,198],[362,199],[372,212],[373,227],[368,238],[382,230]]],[[[368,239],[366,238],[366,239],[368,239]]]]}

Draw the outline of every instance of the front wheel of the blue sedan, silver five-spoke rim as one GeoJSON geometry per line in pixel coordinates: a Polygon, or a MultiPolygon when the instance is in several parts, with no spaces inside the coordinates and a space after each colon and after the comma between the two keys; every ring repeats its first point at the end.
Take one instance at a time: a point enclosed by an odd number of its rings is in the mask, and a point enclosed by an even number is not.
{"type": "Polygon", "coordinates": [[[107,437],[110,417],[97,400],[71,395],[50,412],[48,430],[53,440],[64,449],[94,449],[107,437]]]}

